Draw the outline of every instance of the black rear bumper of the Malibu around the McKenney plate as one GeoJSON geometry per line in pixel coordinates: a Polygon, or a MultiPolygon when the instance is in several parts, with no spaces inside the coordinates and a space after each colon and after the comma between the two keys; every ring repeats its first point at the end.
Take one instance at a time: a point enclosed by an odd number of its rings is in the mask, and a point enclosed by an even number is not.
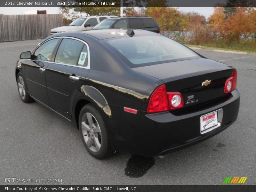
{"type": "Polygon", "coordinates": [[[122,107],[111,106],[113,119],[109,120],[110,142],[114,150],[141,156],[165,155],[206,140],[225,130],[236,121],[240,94],[231,92],[228,100],[193,113],[175,116],[170,112],[130,114],[122,107]],[[220,127],[201,134],[200,117],[223,109],[220,127]],[[114,123],[115,122],[115,123],[114,123]]]}

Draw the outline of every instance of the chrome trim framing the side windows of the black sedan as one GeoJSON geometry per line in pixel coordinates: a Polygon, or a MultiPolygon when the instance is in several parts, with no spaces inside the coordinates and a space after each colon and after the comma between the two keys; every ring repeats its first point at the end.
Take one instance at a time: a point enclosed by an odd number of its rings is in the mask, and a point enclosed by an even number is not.
{"type": "MultiPolygon", "coordinates": [[[[91,69],[91,57],[90,57],[90,49],[89,49],[89,45],[81,40],[81,39],[78,39],[76,37],[68,37],[68,36],[58,36],[58,37],[52,37],[50,39],[47,39],[46,41],[44,41],[42,44],[46,43],[47,41],[50,41],[52,39],[57,39],[57,38],[66,38],[66,39],[74,39],[74,40],[77,40],[77,41],[80,41],[82,43],[84,43],[87,47],[87,55],[88,55],[88,63],[87,63],[87,66],[86,67],[83,67],[83,66],[78,66],[78,65],[70,65],[68,63],[59,63],[59,62],[55,62],[55,61],[43,61],[43,60],[32,60],[32,61],[41,61],[41,62],[46,62],[46,63],[55,63],[55,64],[59,64],[59,65],[66,65],[66,66],[72,66],[72,67],[77,67],[77,68],[84,68],[84,69],[91,69]]],[[[38,45],[36,47],[36,49],[32,52],[34,53],[42,44],[38,45]]],[[[57,53],[56,53],[57,54],[57,53]]],[[[54,58],[55,59],[55,58],[54,58]]],[[[31,59],[28,59],[28,60],[31,60],[31,59]]]]}

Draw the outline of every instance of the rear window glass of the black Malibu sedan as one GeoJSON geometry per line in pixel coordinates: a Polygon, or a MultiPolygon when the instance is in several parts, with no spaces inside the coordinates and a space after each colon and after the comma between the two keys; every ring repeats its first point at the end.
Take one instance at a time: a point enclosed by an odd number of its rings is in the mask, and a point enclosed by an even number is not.
{"type": "Polygon", "coordinates": [[[104,42],[121,59],[128,60],[130,67],[201,58],[186,46],[160,35],[117,37],[104,42]]]}

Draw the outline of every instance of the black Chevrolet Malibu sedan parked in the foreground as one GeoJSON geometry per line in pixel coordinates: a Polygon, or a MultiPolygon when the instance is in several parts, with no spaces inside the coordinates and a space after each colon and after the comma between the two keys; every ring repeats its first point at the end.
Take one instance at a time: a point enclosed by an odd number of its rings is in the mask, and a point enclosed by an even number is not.
{"type": "Polygon", "coordinates": [[[77,124],[99,159],[188,147],[226,129],[239,110],[235,68],[145,30],[49,36],[20,54],[15,75],[21,100],[77,124]]]}

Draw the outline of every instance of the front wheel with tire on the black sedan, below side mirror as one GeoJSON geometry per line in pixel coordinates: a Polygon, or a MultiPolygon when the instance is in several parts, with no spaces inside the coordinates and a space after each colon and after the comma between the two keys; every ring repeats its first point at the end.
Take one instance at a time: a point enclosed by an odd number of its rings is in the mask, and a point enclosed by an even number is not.
{"type": "Polygon", "coordinates": [[[34,100],[29,96],[27,89],[26,89],[26,85],[24,82],[24,78],[21,75],[21,73],[19,72],[17,75],[17,86],[18,86],[18,91],[19,91],[19,95],[20,95],[20,99],[24,102],[24,103],[31,103],[34,100]]]}

